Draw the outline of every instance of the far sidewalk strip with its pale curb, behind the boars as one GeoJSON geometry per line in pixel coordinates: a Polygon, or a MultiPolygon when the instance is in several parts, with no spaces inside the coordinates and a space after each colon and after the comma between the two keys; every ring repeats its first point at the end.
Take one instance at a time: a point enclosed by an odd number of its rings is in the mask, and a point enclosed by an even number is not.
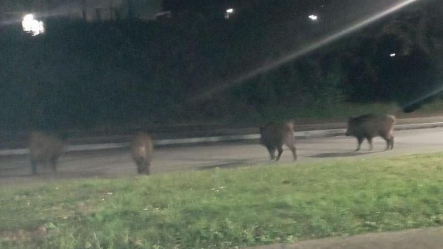
{"type": "MultiPolygon", "coordinates": [[[[313,123],[294,125],[294,136],[297,139],[315,137],[333,137],[344,135],[347,124],[313,123]]],[[[425,118],[398,119],[395,130],[425,129],[443,127],[443,116],[425,118]]],[[[260,138],[258,127],[239,129],[200,129],[183,130],[182,132],[155,132],[150,134],[154,138],[155,146],[196,145],[214,142],[257,141],[260,138]]],[[[77,136],[67,140],[66,151],[85,151],[128,147],[135,131],[130,134],[109,134],[96,136],[77,136]]],[[[21,137],[0,138],[0,156],[27,154],[27,135],[21,137]]]]}

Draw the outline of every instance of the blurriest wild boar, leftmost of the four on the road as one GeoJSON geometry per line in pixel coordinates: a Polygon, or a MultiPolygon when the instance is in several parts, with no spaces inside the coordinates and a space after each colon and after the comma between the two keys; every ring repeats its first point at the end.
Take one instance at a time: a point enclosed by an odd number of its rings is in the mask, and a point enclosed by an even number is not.
{"type": "Polygon", "coordinates": [[[51,163],[57,170],[57,160],[63,154],[64,142],[59,137],[42,131],[33,131],[29,139],[32,174],[37,174],[37,165],[51,163]]]}

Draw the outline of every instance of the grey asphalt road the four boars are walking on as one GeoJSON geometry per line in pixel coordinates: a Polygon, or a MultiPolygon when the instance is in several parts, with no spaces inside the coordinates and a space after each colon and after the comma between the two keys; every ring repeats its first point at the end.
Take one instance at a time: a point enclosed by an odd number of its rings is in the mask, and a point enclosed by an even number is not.
{"type": "MultiPolygon", "coordinates": [[[[299,139],[297,141],[299,161],[336,157],[370,158],[443,151],[443,128],[396,131],[394,135],[393,150],[384,151],[385,141],[382,138],[375,138],[372,152],[368,151],[369,145],[366,141],[363,142],[361,151],[353,152],[356,148],[356,139],[353,137],[299,139]]],[[[287,148],[280,160],[292,161],[292,154],[287,148]]],[[[161,174],[171,171],[230,168],[251,164],[270,164],[271,166],[272,163],[266,148],[258,143],[224,143],[156,149],[151,172],[161,174]]],[[[60,158],[57,173],[52,173],[49,168],[40,167],[40,174],[31,176],[27,156],[0,157],[0,186],[72,178],[115,178],[136,175],[135,164],[129,156],[128,149],[71,152],[60,158]]]]}

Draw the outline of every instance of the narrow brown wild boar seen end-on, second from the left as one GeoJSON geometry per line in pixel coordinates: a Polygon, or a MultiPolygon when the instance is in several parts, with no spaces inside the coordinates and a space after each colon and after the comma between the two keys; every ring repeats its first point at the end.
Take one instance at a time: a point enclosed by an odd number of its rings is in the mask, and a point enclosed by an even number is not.
{"type": "Polygon", "coordinates": [[[138,174],[150,174],[153,147],[151,137],[144,132],[138,133],[132,140],[131,155],[137,164],[138,174]]]}

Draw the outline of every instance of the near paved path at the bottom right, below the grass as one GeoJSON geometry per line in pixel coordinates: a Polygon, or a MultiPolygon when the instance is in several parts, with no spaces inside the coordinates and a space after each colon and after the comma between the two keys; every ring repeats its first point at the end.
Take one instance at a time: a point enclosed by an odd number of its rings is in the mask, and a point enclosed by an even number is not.
{"type": "Polygon", "coordinates": [[[307,240],[293,244],[273,244],[245,249],[441,249],[443,227],[397,232],[367,233],[355,236],[307,240]]]}

